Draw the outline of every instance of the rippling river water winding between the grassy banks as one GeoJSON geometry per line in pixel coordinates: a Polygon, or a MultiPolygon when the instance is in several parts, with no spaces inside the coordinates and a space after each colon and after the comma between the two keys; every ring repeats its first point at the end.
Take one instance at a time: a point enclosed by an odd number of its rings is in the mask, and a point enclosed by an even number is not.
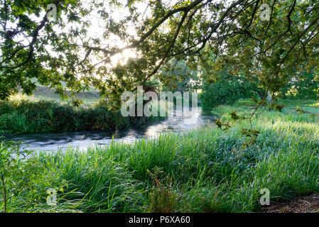
{"type": "MultiPolygon", "coordinates": [[[[119,137],[114,139],[126,143],[134,142],[141,138],[156,138],[160,133],[186,132],[204,125],[213,126],[216,116],[202,111],[200,107],[192,111],[191,116],[174,113],[164,121],[151,125],[139,126],[119,131],[119,137]]],[[[85,150],[92,145],[107,145],[112,143],[114,131],[82,131],[60,133],[32,133],[23,135],[9,135],[7,140],[16,140],[23,143],[28,150],[58,150],[67,147],[85,150]]]]}

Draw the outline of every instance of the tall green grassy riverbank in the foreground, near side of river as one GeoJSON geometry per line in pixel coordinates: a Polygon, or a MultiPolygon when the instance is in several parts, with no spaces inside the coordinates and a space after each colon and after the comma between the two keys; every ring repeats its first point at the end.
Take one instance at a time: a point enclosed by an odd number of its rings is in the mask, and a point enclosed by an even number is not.
{"type": "MultiPolygon", "coordinates": [[[[231,121],[229,111],[250,107],[239,102],[214,111],[231,121]]],[[[45,168],[34,173],[38,181],[53,174],[55,181],[38,187],[33,206],[11,202],[10,211],[249,212],[261,211],[261,189],[269,190],[271,202],[318,193],[318,118],[285,108],[252,123],[260,133],[250,145],[241,133],[249,122],[241,121],[228,131],[200,128],[85,152],[38,153],[33,158],[45,168]],[[54,207],[45,203],[47,187],[63,187],[54,207]]],[[[21,192],[16,201],[26,196],[21,192]]]]}

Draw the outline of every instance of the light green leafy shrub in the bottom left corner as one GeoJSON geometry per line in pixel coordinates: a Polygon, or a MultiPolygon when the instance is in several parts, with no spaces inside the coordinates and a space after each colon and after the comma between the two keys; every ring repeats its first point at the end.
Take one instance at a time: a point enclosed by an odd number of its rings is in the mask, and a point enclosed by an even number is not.
{"type": "Polygon", "coordinates": [[[0,144],[0,181],[1,209],[6,213],[50,210],[46,204],[48,188],[63,190],[66,182],[60,179],[60,170],[48,172],[31,155],[31,151],[21,150],[20,144],[13,141],[1,141],[0,144]]]}

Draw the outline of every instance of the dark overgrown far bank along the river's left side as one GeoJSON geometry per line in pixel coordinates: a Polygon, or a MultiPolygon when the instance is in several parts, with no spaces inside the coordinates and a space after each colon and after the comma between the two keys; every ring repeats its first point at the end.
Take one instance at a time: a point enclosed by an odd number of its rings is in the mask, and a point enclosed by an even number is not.
{"type": "Polygon", "coordinates": [[[58,104],[56,101],[0,101],[1,133],[110,131],[149,123],[153,118],[123,117],[104,105],[58,104]]]}

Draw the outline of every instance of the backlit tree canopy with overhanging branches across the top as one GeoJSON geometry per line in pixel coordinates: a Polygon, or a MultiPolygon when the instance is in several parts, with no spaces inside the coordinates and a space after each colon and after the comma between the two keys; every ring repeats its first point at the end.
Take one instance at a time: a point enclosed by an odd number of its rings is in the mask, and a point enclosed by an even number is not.
{"type": "Polygon", "coordinates": [[[266,99],[318,68],[317,0],[1,0],[0,18],[0,99],[38,83],[62,95],[95,87],[119,104],[171,60],[212,80],[225,67],[257,78],[266,99]]]}

